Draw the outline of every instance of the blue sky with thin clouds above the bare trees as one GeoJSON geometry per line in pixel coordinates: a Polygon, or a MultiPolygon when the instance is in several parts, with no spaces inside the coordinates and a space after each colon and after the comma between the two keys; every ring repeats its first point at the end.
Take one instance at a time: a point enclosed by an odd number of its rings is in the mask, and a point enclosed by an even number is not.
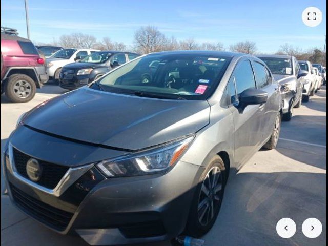
{"type": "MultiPolygon", "coordinates": [[[[52,42],[62,34],[83,32],[98,39],[133,44],[140,26],[157,26],[177,40],[222,42],[225,47],[254,41],[261,52],[275,52],[289,43],[304,50],[323,48],[326,1],[139,1],[139,0],[29,0],[30,32],[34,42],[52,42]],[[301,15],[306,7],[321,9],[323,21],[307,27],[301,15]]],[[[24,0],[1,1],[1,25],[26,36],[24,0]]]]}

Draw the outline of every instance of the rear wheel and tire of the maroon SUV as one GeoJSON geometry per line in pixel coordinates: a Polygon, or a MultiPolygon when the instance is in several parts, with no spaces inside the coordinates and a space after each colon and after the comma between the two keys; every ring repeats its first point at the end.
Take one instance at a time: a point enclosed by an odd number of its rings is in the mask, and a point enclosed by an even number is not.
{"type": "Polygon", "coordinates": [[[33,99],[35,93],[36,85],[31,77],[20,73],[9,76],[5,86],[5,94],[12,103],[26,103],[33,99]],[[19,91],[16,89],[20,86],[25,90],[19,91]]]}

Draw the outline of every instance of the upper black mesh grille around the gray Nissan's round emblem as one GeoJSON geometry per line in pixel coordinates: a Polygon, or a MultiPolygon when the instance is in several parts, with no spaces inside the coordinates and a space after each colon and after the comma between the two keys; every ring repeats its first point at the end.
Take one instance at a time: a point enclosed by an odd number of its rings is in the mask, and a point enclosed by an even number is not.
{"type": "MultiPolygon", "coordinates": [[[[23,177],[29,179],[29,176],[26,172],[26,163],[32,157],[24,154],[23,152],[20,152],[15,148],[13,148],[13,154],[17,172],[23,177]]],[[[39,159],[37,159],[37,161],[39,162],[40,166],[42,166],[42,173],[40,180],[36,183],[49,189],[54,189],[60,179],[63,178],[69,169],[68,167],[56,165],[47,161],[39,159]]]]}

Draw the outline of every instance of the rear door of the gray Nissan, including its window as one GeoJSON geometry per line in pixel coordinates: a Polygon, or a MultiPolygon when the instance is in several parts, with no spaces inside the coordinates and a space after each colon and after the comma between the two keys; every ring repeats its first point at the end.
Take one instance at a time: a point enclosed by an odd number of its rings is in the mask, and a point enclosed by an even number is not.
{"type": "Polygon", "coordinates": [[[279,86],[273,79],[273,76],[269,69],[264,66],[258,60],[252,61],[256,87],[262,91],[268,93],[267,103],[259,106],[259,111],[262,114],[262,141],[267,139],[271,134],[274,126],[274,122],[279,111],[280,97],[279,97],[279,86]]]}

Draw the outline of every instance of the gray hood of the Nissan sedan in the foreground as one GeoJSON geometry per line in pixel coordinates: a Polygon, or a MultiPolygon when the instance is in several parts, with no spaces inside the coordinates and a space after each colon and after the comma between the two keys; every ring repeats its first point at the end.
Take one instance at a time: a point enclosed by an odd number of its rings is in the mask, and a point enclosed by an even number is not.
{"type": "Polygon", "coordinates": [[[23,124],[126,150],[140,150],[193,134],[209,124],[206,100],[168,100],[96,91],[88,87],[32,109],[23,124]]]}

